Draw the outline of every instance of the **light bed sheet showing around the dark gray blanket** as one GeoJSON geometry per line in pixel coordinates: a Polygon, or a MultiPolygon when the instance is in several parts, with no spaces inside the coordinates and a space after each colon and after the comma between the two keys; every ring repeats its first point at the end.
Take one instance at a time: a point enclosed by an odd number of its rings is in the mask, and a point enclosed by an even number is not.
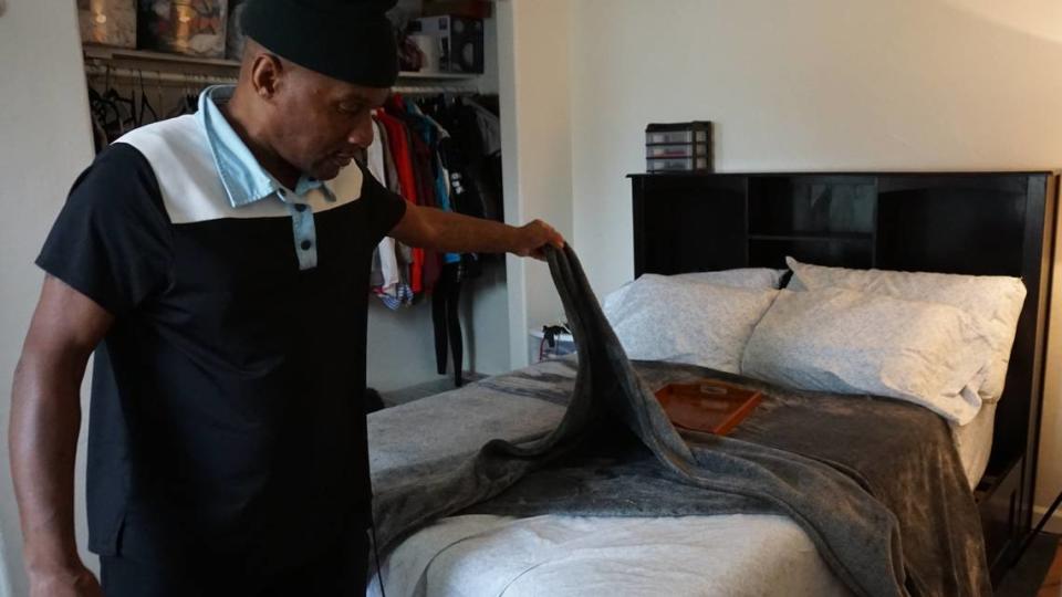
{"type": "MultiPolygon", "coordinates": [[[[524,384],[541,378],[555,387],[573,380],[569,357],[520,371],[524,384]],[[548,381],[546,381],[548,380],[548,381]]],[[[434,451],[410,448],[385,436],[388,420],[418,421],[454,453],[468,453],[494,437],[520,440],[543,433],[559,421],[556,405],[498,405],[488,379],[373,416],[369,440],[378,471],[412,461],[447,465],[434,451]],[[493,402],[497,408],[489,408],[493,402]],[[438,405],[452,417],[439,418],[438,405]],[[475,412],[472,421],[468,412],[475,412]],[[506,421],[534,420],[507,433],[506,421]]],[[[527,398],[527,400],[534,400],[527,398]]],[[[956,446],[971,486],[988,462],[995,406],[955,429],[956,446]]],[[[767,595],[785,586],[787,595],[848,595],[819,556],[808,535],[789,519],[771,515],[683,516],[674,519],[542,515],[529,519],[470,514],[444,519],[405,540],[383,563],[387,595],[593,595],[622,587],[622,595],[767,595]]],[[[369,595],[379,595],[378,584],[369,595]]]]}

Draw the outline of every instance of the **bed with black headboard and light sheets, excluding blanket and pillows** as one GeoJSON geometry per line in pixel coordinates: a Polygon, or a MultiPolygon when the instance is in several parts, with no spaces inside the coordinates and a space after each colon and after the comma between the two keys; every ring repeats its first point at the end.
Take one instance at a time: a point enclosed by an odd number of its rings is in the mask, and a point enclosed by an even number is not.
{"type": "MultiPolygon", "coordinates": [[[[1029,528],[1055,176],[639,176],[634,186],[636,274],[780,266],[795,254],[832,265],[1022,277],[1029,293],[1006,394],[954,428],[998,579],[1029,528]]],[[[552,362],[522,376],[555,383],[572,373],[552,362]]],[[[430,412],[425,432],[438,442],[421,446],[446,444],[450,454],[556,425],[558,405],[499,401],[490,385],[374,415],[374,475],[395,463],[448,463],[437,450],[418,453],[381,434],[388,418],[408,423],[430,412]],[[454,418],[440,420],[433,401],[451,406],[454,418]],[[514,420],[523,425],[507,428],[514,420]]],[[[382,572],[388,595],[762,595],[780,586],[789,595],[847,594],[803,530],[772,515],[457,515],[406,537],[382,572]]]]}

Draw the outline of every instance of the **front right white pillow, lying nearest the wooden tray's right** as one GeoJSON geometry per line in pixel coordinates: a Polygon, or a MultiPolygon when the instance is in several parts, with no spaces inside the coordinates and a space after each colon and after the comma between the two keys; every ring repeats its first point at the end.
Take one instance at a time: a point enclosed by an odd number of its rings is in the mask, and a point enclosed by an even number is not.
{"type": "Polygon", "coordinates": [[[840,287],[781,291],[749,338],[741,373],[799,389],[909,400],[959,425],[992,358],[983,323],[940,303],[840,287]]]}

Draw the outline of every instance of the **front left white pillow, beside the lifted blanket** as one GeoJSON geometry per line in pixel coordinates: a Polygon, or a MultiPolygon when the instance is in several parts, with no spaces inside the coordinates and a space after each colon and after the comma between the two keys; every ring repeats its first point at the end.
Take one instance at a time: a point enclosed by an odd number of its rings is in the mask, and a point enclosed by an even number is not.
{"type": "Polygon", "coordinates": [[[738,373],[745,344],[777,295],[645,274],[606,296],[603,308],[631,358],[738,373]]]}

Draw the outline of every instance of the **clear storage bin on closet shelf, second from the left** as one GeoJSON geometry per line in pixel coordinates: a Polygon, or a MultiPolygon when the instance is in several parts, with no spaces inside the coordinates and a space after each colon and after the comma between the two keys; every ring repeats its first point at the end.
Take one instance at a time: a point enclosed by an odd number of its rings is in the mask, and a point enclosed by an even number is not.
{"type": "Polygon", "coordinates": [[[223,59],[229,0],[139,0],[143,50],[223,59]]]}

